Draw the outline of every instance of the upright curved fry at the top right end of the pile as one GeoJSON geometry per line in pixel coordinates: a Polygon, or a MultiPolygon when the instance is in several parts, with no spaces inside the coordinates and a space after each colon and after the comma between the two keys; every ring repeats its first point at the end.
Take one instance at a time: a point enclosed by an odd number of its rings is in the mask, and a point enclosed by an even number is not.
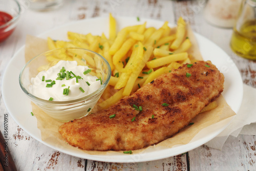
{"type": "Polygon", "coordinates": [[[176,32],[176,39],[174,40],[174,42],[172,43],[172,45],[170,45],[170,49],[178,49],[185,37],[185,33],[186,33],[186,23],[183,20],[182,17],[180,17],[178,19],[178,24],[177,24],[177,32],[176,32]]]}

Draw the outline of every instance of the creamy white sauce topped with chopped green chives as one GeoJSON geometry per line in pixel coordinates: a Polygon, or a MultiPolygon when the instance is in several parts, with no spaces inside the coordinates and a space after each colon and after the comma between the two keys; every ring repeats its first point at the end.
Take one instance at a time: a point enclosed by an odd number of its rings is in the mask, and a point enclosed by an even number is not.
{"type": "Polygon", "coordinates": [[[87,66],[77,66],[77,61],[60,60],[47,71],[31,78],[29,91],[45,100],[67,101],[89,95],[101,86],[101,79],[90,74],[87,66]]]}

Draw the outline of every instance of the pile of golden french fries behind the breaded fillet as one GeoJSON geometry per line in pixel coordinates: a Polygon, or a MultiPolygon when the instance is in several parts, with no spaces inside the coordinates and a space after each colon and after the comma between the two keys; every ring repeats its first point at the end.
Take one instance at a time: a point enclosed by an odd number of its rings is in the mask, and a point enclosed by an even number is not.
{"type": "MultiPolygon", "coordinates": [[[[78,47],[99,53],[108,60],[112,76],[109,86],[104,91],[99,106],[106,109],[124,96],[129,96],[146,83],[151,82],[159,75],[177,69],[183,63],[194,62],[187,53],[192,46],[189,37],[186,37],[186,22],[182,17],[178,19],[177,27],[170,28],[168,22],[162,27],[146,27],[134,25],[116,30],[116,19],[109,16],[109,38],[101,36],[68,32],[69,41],[53,40],[48,37],[49,49],[78,47]]],[[[65,55],[64,55],[65,56],[65,55]]],[[[86,60],[93,66],[92,58],[79,56],[59,57],[50,56],[49,61],[86,60]]],[[[211,104],[212,105],[212,104],[211,104]]],[[[209,109],[216,108],[208,107],[209,109]]]]}

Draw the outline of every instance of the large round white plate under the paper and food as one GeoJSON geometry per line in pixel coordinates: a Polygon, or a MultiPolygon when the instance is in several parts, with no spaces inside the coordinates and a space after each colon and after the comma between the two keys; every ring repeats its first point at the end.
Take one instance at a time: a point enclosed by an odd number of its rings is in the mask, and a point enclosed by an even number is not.
{"type": "MultiPolygon", "coordinates": [[[[140,19],[140,22],[137,21],[137,18],[131,17],[117,17],[116,19],[118,29],[129,25],[131,26],[142,24],[145,21],[147,22],[147,27],[159,28],[163,25],[163,22],[151,19],[140,19]]],[[[68,31],[84,34],[92,33],[93,35],[101,35],[101,33],[104,32],[105,35],[108,35],[109,19],[108,17],[98,17],[86,20],[79,20],[77,22],[69,23],[67,25],[50,30],[46,33],[39,35],[39,37],[47,38],[49,36],[53,39],[67,40],[68,31]]],[[[234,112],[238,112],[243,97],[243,83],[239,70],[237,69],[236,65],[234,65],[230,57],[221,48],[219,48],[217,45],[215,45],[213,42],[209,41],[205,37],[197,33],[195,33],[195,35],[198,40],[199,48],[204,60],[211,60],[212,63],[214,63],[218,67],[218,69],[224,74],[225,85],[223,96],[226,99],[227,103],[230,105],[231,109],[234,112]]],[[[30,115],[30,112],[32,111],[30,100],[19,87],[19,72],[25,65],[24,52],[25,46],[17,51],[17,53],[11,59],[9,65],[6,68],[3,76],[2,85],[3,99],[10,115],[17,122],[17,124],[22,127],[24,131],[26,131],[36,140],[56,149],[57,151],[80,158],[105,162],[144,162],[158,160],[188,152],[191,149],[194,149],[206,143],[207,141],[217,136],[221,131],[223,131],[230,122],[229,120],[226,121],[224,124],[217,124],[215,125],[214,129],[212,129],[212,127],[210,126],[207,127],[202,133],[199,132],[196,138],[188,144],[173,148],[150,148],[149,150],[144,151],[141,154],[132,155],[121,153],[111,155],[108,155],[108,153],[106,153],[105,155],[89,155],[70,145],[68,147],[63,147],[56,145],[51,140],[42,141],[40,131],[37,129],[36,118],[30,115]],[[205,134],[205,132],[207,134],[205,134]]]]}

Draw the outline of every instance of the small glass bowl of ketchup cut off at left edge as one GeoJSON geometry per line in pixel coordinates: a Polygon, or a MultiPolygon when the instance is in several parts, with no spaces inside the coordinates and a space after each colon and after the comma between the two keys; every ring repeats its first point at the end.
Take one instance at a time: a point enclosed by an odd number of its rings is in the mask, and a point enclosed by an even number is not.
{"type": "Polygon", "coordinates": [[[16,0],[0,0],[0,43],[13,33],[20,11],[20,5],[16,0]]]}

